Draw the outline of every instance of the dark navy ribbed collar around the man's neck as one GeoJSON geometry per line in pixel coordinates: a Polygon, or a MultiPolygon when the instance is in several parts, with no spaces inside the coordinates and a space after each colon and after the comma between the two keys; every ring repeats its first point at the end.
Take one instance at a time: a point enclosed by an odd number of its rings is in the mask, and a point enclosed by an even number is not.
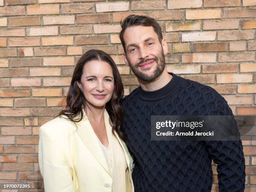
{"type": "Polygon", "coordinates": [[[179,83],[181,77],[175,75],[174,73],[169,73],[172,75],[172,79],[167,83],[164,87],[162,87],[159,90],[155,91],[144,91],[141,87],[139,87],[138,93],[140,94],[140,97],[142,100],[158,100],[163,97],[166,97],[169,95],[172,90],[174,90],[174,87],[179,83]]]}

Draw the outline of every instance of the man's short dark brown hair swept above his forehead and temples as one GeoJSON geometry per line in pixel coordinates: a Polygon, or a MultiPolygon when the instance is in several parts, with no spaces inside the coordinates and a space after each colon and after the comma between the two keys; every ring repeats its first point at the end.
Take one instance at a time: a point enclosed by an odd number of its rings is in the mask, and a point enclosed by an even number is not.
{"type": "Polygon", "coordinates": [[[120,22],[122,30],[119,33],[119,38],[121,40],[121,43],[123,45],[123,49],[126,54],[126,49],[125,49],[125,42],[123,39],[123,34],[125,32],[125,29],[128,27],[134,27],[134,26],[152,26],[154,31],[156,32],[159,42],[161,43],[163,39],[162,35],[162,29],[159,26],[159,24],[156,22],[155,19],[143,15],[129,15],[127,16],[123,21],[120,22]]]}

